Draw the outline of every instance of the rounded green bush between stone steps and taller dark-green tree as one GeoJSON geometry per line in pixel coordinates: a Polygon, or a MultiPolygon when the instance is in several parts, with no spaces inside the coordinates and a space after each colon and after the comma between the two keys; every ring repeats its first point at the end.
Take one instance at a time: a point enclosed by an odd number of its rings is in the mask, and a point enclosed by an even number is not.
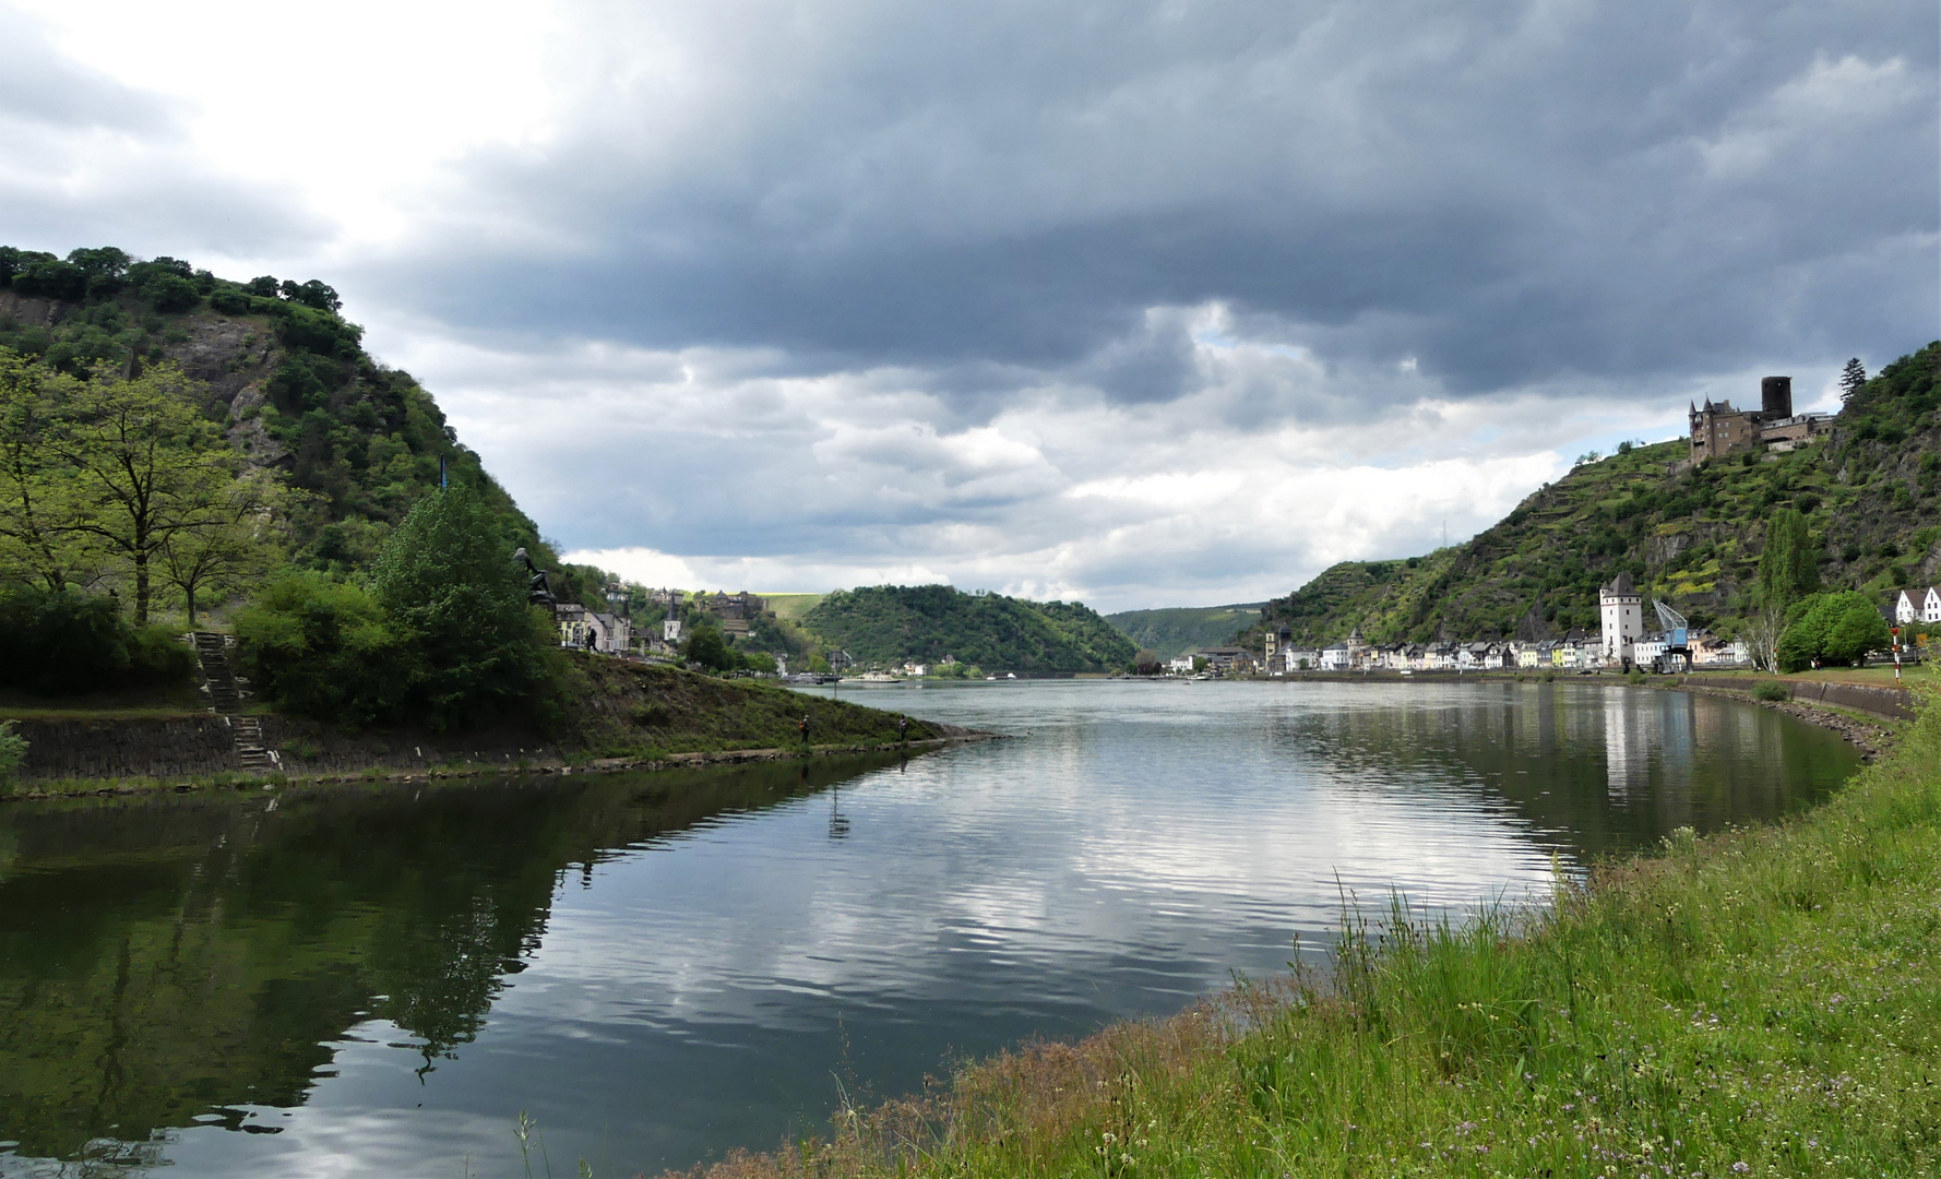
{"type": "Polygon", "coordinates": [[[394,717],[410,653],[369,587],[291,573],[237,612],[250,680],[280,707],[349,728],[394,717]]]}

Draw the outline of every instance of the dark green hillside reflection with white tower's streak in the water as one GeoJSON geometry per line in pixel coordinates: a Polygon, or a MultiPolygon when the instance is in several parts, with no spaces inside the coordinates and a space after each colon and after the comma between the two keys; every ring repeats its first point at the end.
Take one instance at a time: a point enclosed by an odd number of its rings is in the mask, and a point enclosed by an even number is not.
{"type": "Polygon", "coordinates": [[[1679,825],[1770,820],[1858,765],[1830,732],[1681,691],[1409,686],[1366,703],[1287,713],[1273,740],[1343,785],[1473,783],[1531,827],[1568,831],[1586,855],[1648,845],[1679,825]]]}

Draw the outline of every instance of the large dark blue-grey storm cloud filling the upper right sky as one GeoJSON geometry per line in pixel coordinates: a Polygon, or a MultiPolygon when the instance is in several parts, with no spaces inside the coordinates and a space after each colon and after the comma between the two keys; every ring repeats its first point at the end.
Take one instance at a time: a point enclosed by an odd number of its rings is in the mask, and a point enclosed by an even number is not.
{"type": "Polygon", "coordinates": [[[656,25],[705,87],[474,163],[476,216],[555,245],[388,278],[460,326],[1130,402],[1194,383],[1147,311],[1207,301],[1458,394],[1933,332],[1925,0],[903,8],[656,25]]]}

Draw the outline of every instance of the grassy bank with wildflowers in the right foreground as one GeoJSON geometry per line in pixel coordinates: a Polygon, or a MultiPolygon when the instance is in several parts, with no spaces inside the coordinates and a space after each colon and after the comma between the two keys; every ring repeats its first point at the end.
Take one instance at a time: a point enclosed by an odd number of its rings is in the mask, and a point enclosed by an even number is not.
{"type": "Polygon", "coordinates": [[[1332,979],[970,1064],[697,1173],[1931,1175],[1941,709],[1825,806],[1531,917],[1349,923],[1332,979]]]}

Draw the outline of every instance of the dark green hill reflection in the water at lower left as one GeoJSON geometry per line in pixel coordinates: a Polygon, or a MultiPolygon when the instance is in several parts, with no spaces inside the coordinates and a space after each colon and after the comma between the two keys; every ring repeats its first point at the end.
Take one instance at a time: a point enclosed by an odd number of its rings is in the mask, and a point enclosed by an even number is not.
{"type": "Polygon", "coordinates": [[[276,810],[10,808],[0,1140],[76,1158],[198,1115],[235,1121],[231,1105],[297,1105],[332,1041],[373,1018],[419,1037],[429,1068],[477,1033],[569,866],[877,763],[345,791],[276,810]]]}

